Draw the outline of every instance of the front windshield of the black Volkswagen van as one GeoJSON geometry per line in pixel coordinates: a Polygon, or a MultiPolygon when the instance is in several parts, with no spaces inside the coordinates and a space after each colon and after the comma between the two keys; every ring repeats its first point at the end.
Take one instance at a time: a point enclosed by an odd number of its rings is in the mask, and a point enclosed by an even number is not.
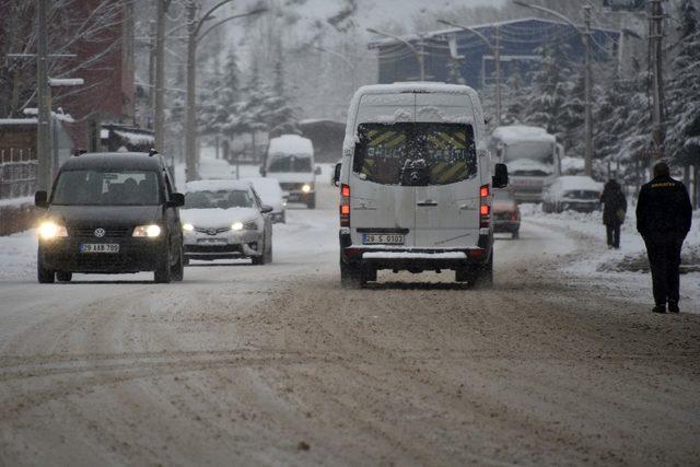
{"type": "Polygon", "coordinates": [[[54,188],[54,205],[155,206],[160,203],[156,172],[62,171],[54,188]]]}

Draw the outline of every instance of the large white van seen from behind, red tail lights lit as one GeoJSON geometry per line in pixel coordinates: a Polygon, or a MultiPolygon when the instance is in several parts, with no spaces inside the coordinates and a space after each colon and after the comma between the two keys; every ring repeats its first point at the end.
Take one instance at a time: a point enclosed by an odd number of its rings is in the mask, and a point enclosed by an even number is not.
{"type": "Polygon", "coordinates": [[[340,276],[376,281],[380,269],[452,269],[458,282],[493,278],[491,177],[479,96],[463,85],[396,83],[355,93],[340,186],[340,276]]]}

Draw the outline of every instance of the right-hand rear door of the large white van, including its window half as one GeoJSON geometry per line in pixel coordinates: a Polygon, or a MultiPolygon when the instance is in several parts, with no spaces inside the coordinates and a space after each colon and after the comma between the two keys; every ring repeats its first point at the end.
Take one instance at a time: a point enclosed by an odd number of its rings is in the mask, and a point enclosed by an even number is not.
{"type": "Polygon", "coordinates": [[[480,177],[469,97],[417,94],[416,115],[429,173],[425,183],[416,187],[416,246],[475,246],[480,177]]]}

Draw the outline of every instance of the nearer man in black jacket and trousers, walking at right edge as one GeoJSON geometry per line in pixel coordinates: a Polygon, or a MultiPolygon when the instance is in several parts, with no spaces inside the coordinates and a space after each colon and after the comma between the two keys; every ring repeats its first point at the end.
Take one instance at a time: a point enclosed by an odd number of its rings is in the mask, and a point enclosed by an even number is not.
{"type": "Polygon", "coordinates": [[[644,238],[652,270],[655,313],[678,313],[680,248],[690,231],[692,207],[686,186],[670,177],[668,165],[654,165],[654,179],[637,201],[637,230],[644,238]]]}

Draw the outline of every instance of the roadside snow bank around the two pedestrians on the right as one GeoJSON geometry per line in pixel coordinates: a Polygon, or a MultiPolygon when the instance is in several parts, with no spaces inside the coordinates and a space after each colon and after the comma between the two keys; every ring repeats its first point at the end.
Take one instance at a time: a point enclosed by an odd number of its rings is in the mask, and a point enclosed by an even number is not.
{"type": "MultiPolygon", "coordinates": [[[[545,214],[539,205],[523,205],[521,207],[524,222],[547,226],[552,230],[564,231],[580,237],[585,246],[580,256],[569,258],[561,265],[561,271],[569,277],[582,280],[594,280],[606,283],[610,292],[620,296],[637,297],[652,303],[651,276],[646,271],[620,270],[629,269],[627,265],[632,260],[644,262],[646,249],[642,237],[637,232],[634,206],[628,210],[627,220],[622,224],[620,234],[620,249],[608,249],[606,243],[603,213],[581,213],[564,211],[557,214],[545,214]],[[625,265],[620,267],[620,265],[625,265]]],[[[693,224],[684,244],[684,266],[696,265],[697,253],[700,250],[700,211],[696,211],[693,224]],[[690,264],[690,262],[693,264],[690,264]]],[[[681,275],[680,295],[684,311],[700,313],[700,272],[681,275]]]]}

